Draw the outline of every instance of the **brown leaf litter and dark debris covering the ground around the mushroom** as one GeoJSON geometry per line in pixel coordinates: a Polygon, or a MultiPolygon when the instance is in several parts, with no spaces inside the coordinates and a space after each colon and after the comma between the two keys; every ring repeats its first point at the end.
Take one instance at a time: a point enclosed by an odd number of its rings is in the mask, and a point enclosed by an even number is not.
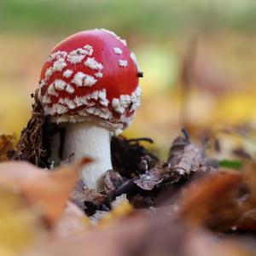
{"type": "Polygon", "coordinates": [[[254,255],[253,159],[241,157],[239,169],[228,160],[227,171],[183,131],[160,163],[141,144],[150,138],[113,137],[113,170],[97,192],[79,179],[89,159],[49,170],[52,137],[61,131],[44,117],[37,93],[34,99],[20,141],[0,137],[0,188],[18,195],[44,234],[24,255],[254,255]]]}

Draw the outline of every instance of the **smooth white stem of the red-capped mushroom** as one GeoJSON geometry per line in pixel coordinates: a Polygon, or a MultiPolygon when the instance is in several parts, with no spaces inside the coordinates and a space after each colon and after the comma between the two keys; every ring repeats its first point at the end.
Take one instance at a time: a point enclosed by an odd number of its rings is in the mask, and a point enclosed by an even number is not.
{"type": "Polygon", "coordinates": [[[88,121],[68,124],[65,134],[63,157],[73,155],[73,160],[89,156],[94,161],[81,172],[82,180],[89,189],[102,189],[102,177],[112,169],[110,131],[88,121]]]}

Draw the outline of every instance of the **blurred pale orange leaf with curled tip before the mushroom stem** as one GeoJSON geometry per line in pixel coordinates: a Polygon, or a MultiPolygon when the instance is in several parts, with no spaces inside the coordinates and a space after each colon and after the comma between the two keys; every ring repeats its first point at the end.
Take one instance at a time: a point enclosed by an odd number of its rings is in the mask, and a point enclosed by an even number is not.
{"type": "Polygon", "coordinates": [[[79,179],[79,170],[90,159],[79,160],[73,166],[53,171],[39,169],[26,162],[6,162],[0,165],[0,185],[15,189],[29,205],[38,207],[48,224],[60,217],[79,179]]]}

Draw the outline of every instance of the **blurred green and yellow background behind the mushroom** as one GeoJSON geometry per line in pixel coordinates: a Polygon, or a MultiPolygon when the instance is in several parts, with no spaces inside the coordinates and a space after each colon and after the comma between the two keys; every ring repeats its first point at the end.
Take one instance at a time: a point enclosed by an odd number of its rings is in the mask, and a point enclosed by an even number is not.
{"type": "Polygon", "coordinates": [[[153,138],[163,157],[182,127],[255,131],[254,0],[1,0],[1,134],[20,136],[50,49],[95,27],[125,38],[144,72],[127,137],[153,138]]]}

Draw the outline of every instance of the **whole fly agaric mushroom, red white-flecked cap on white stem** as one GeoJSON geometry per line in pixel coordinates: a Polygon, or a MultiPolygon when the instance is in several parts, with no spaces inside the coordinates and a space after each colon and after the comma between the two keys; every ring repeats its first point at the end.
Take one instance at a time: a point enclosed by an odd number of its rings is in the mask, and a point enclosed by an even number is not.
{"type": "Polygon", "coordinates": [[[44,64],[38,99],[44,114],[66,127],[63,158],[94,159],[82,170],[90,189],[100,189],[103,174],[112,169],[110,138],[131,125],[142,76],[125,40],[105,29],[64,39],[44,64]]]}

